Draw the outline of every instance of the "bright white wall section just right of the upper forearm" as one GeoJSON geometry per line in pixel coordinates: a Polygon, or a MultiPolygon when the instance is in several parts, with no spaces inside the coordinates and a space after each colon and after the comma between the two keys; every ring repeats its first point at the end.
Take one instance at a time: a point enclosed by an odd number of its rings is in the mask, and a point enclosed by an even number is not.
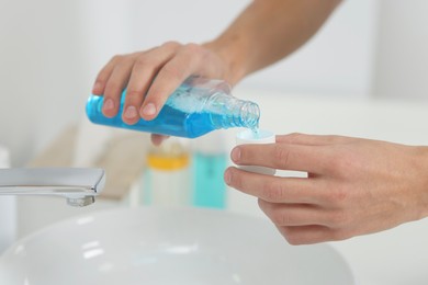
{"type": "Polygon", "coordinates": [[[368,98],[376,26],[378,0],[345,0],[303,48],[245,83],[285,93],[368,98]]]}

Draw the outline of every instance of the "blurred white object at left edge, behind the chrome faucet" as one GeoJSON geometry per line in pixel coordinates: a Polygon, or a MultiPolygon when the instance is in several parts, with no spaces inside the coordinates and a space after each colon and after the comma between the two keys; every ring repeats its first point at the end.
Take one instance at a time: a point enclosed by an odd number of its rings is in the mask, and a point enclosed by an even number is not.
{"type": "MultiPolygon", "coordinates": [[[[10,167],[9,151],[0,146],[0,171],[10,167]]],[[[16,235],[16,200],[0,196],[0,254],[14,241],[16,235]]]]}

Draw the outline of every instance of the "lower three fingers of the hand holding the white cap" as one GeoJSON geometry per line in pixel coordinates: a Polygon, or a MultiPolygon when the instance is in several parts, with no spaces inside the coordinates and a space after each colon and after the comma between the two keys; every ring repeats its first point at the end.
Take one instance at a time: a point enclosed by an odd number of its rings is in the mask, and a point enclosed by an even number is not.
{"type": "Polygon", "coordinates": [[[328,204],[323,180],[278,178],[229,168],[228,185],[258,197],[262,212],[291,244],[350,238],[347,214],[328,204]]]}

